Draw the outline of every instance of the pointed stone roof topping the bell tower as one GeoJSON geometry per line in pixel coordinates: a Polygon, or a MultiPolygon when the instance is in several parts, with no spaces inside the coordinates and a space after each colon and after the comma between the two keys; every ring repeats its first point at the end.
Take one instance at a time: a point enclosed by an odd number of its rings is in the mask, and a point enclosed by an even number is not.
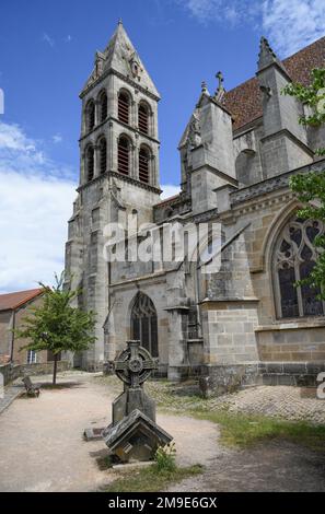
{"type": "Polygon", "coordinates": [[[115,71],[128,78],[158,98],[160,94],[132,45],[121,21],[103,52],[97,51],[95,67],[81,95],[105,72],[115,71]]]}

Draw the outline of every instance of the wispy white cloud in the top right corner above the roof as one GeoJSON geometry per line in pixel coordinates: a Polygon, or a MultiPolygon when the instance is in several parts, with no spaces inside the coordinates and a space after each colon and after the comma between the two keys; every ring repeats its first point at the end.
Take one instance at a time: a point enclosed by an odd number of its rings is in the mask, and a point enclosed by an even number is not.
{"type": "Polygon", "coordinates": [[[286,57],[325,35],[324,0],[176,0],[200,23],[253,24],[286,57]]]}

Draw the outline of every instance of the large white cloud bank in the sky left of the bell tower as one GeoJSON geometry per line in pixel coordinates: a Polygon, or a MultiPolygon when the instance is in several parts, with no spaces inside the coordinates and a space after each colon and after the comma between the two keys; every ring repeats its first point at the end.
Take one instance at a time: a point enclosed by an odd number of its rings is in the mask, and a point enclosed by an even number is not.
{"type": "Polygon", "coordinates": [[[0,292],[53,283],[63,268],[76,184],[39,145],[0,122],[0,292]]]}

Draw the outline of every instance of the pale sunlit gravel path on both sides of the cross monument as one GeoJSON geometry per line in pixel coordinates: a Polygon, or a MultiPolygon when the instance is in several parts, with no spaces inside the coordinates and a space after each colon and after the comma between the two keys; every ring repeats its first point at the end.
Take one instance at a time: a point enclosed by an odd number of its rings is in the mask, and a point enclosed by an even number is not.
{"type": "MultiPolygon", "coordinates": [[[[85,428],[109,423],[116,395],[85,374],[66,375],[71,381],[39,398],[18,398],[1,414],[0,491],[89,491],[116,478],[97,463],[108,453],[105,444],[82,440],[85,428]]],[[[169,414],[158,423],[174,435],[179,464],[209,465],[217,455],[216,424],[169,414]]]]}

